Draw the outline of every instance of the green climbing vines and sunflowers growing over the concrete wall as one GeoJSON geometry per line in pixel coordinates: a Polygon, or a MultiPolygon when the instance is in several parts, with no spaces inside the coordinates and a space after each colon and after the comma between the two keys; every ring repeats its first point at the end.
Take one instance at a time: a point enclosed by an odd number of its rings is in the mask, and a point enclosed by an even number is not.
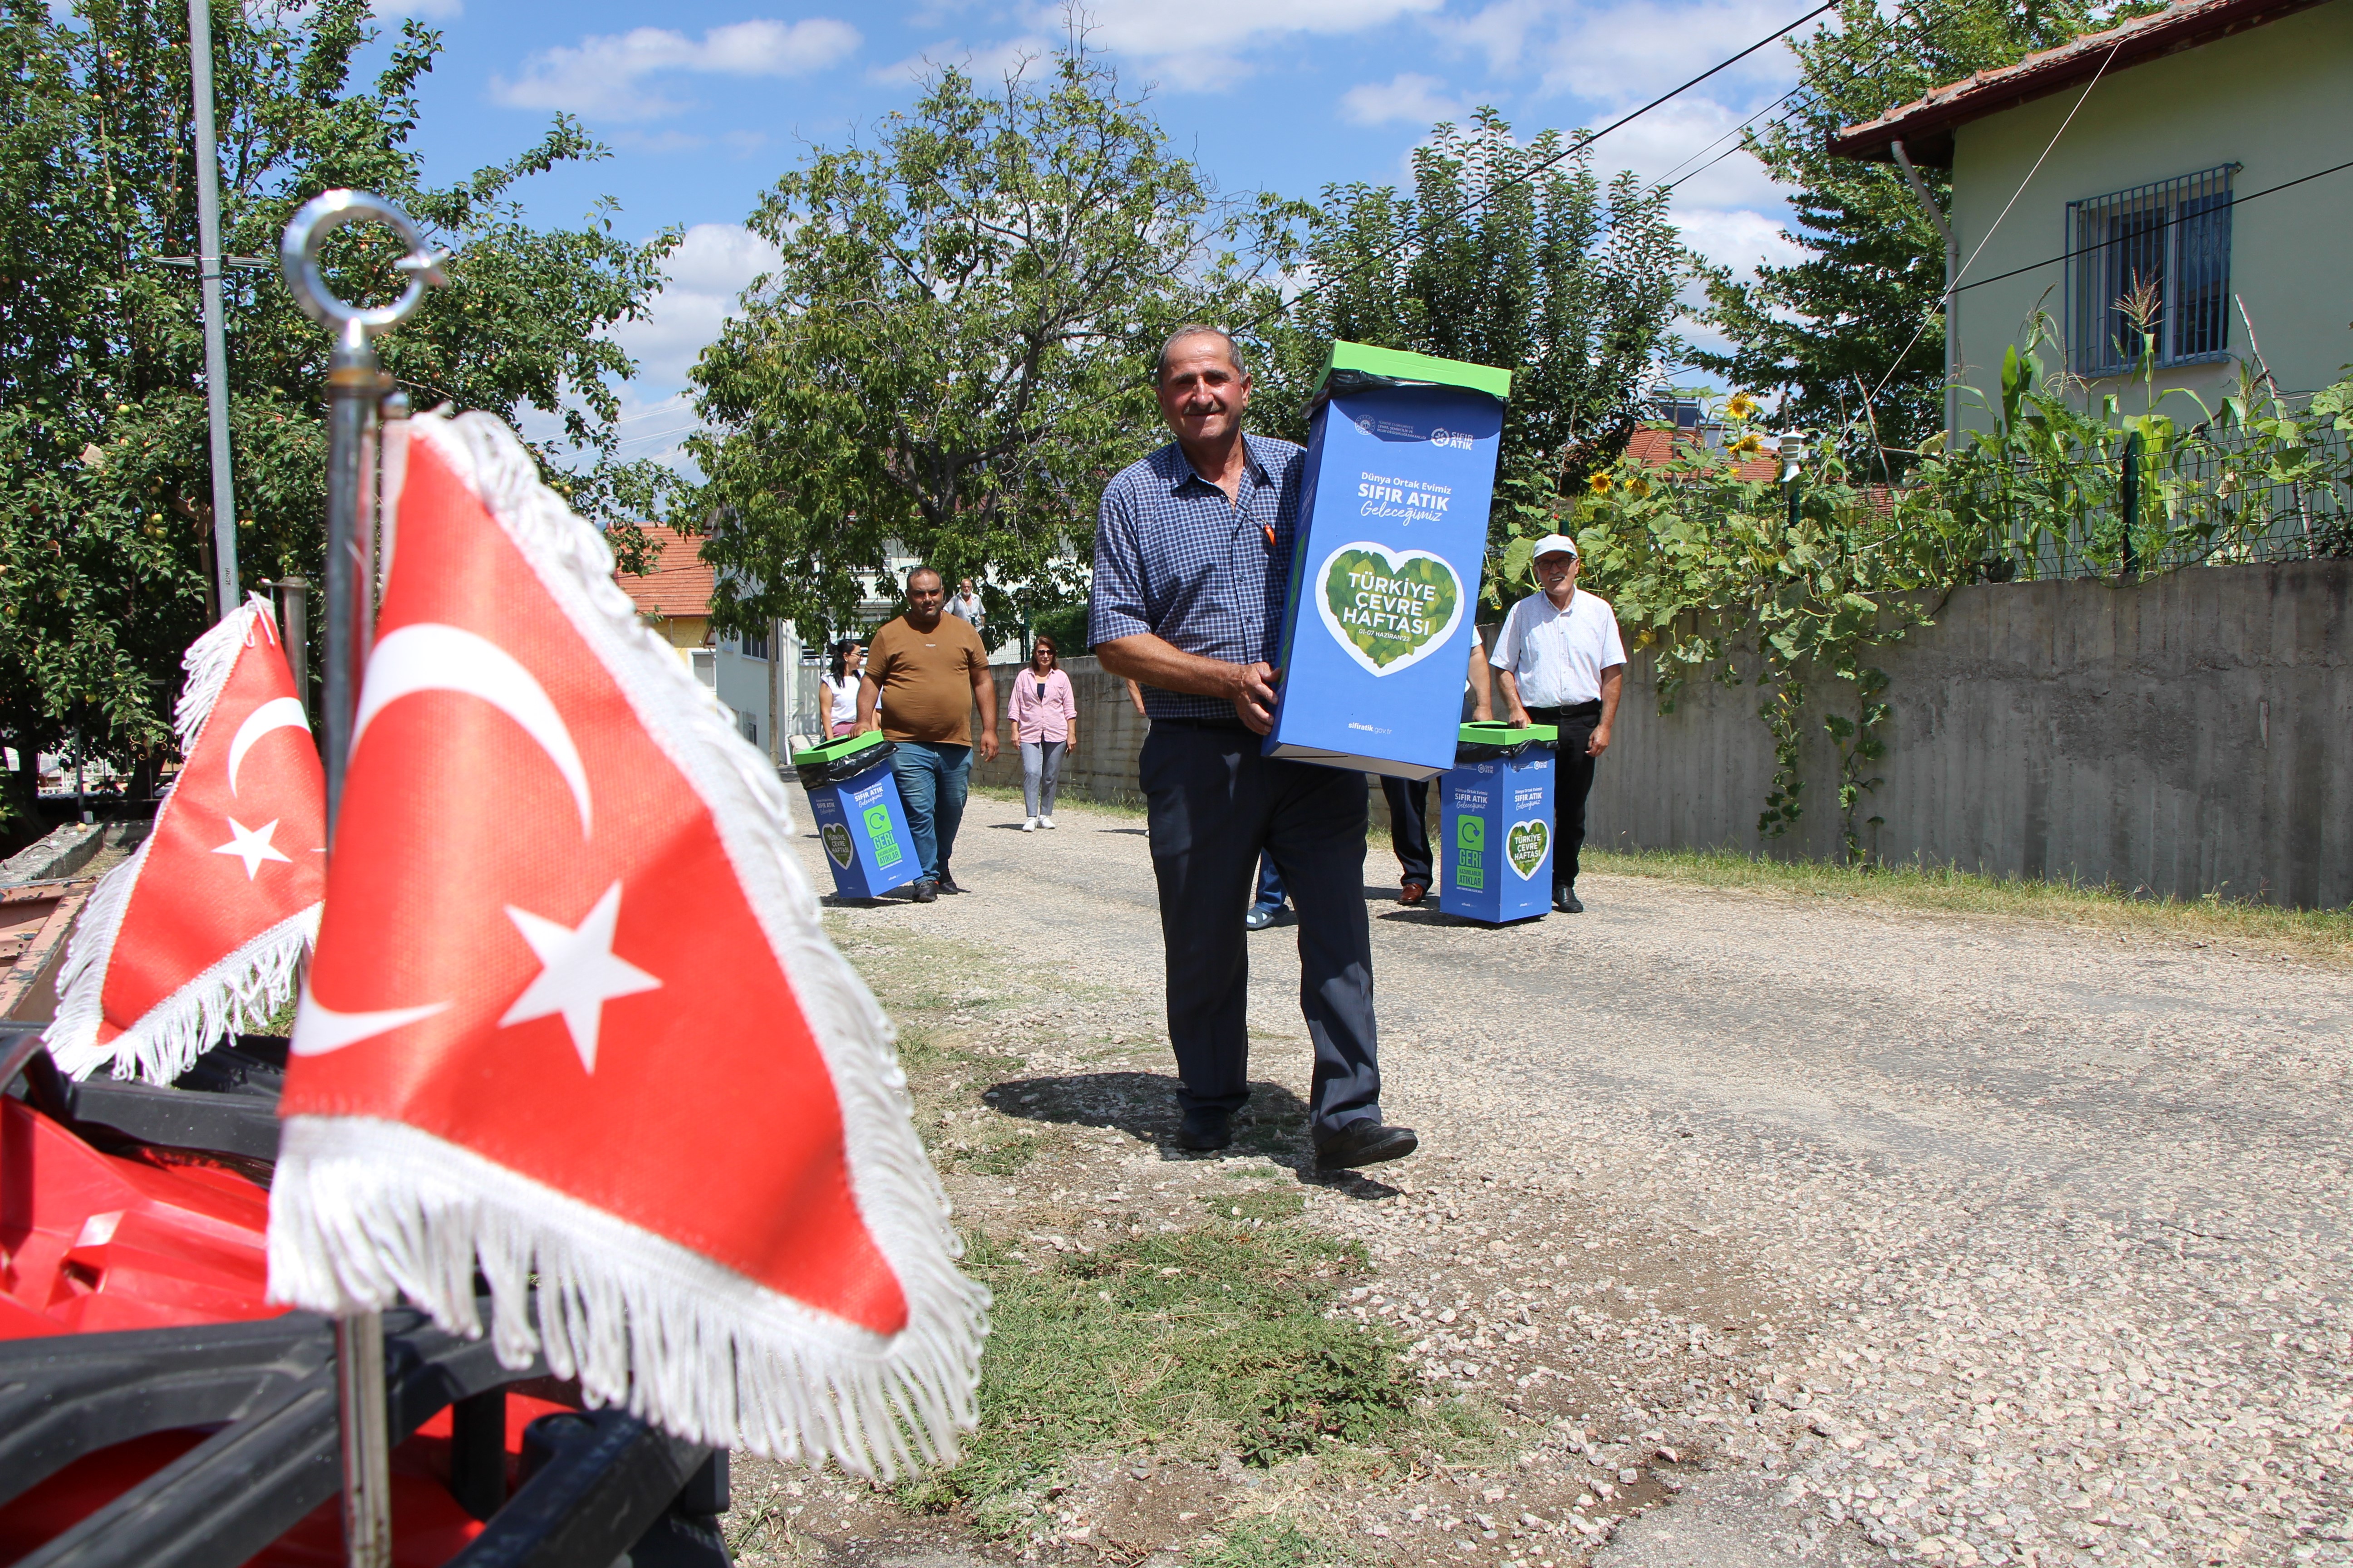
{"type": "Polygon", "coordinates": [[[1758,404],[1732,397],[1718,447],[1621,458],[1522,517],[1494,576],[1501,597],[1529,583],[1537,536],[1569,531],[1581,585],[1612,602],[1631,649],[1654,654],[1661,712],[1692,677],[1753,686],[1774,741],[1765,837],[1805,813],[1814,701],[1838,762],[1840,839],[1861,860],[1889,717],[1873,656],[1929,625],[1953,588],[2353,552],[2353,381],[2297,409],[2247,369],[2207,409],[2158,393],[2144,362],[2132,411],[2118,393],[2047,371],[2045,341],[2009,350],[1984,428],[1948,451],[1904,454],[1904,484],[1871,482],[1894,465],[1854,433],[1807,440],[1793,484],[1786,468],[1741,477],[1767,437],[1758,404]]]}

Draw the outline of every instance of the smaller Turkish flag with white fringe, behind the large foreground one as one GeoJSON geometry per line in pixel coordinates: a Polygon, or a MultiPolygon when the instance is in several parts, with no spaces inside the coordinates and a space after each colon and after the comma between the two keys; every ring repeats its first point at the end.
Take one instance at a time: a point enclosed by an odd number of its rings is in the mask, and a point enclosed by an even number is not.
{"type": "Polygon", "coordinates": [[[179,780],[106,872],[59,971],[56,1065],[169,1084],[294,994],[327,886],[327,785],[268,599],[188,646],[179,780]]]}

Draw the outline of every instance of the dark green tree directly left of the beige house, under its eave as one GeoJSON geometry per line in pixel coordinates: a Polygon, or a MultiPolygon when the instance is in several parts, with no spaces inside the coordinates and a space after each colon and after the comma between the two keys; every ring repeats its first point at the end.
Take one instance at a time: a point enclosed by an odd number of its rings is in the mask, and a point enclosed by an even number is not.
{"type": "MultiPolygon", "coordinates": [[[[2092,26],[2085,0],[1911,0],[1894,19],[1871,0],[1847,0],[1835,31],[1791,40],[1802,71],[1798,108],[1746,146],[1791,186],[1795,223],[1784,237],[1805,259],[1760,266],[1753,282],[1715,268],[1706,320],[1732,350],[1692,362],[1746,390],[1781,393],[1784,423],[1852,430],[1849,451],[1913,449],[1941,430],[1944,240],[1901,169],[1831,158],[1828,143],[1929,87],[2009,66],[2092,26]]],[[[1920,176],[1951,209],[1951,176],[1920,176]]]]}

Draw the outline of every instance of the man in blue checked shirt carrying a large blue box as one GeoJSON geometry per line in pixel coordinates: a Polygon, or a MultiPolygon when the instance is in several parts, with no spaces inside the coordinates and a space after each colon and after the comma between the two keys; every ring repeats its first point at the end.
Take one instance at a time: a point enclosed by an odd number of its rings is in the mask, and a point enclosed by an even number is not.
{"type": "Polygon", "coordinates": [[[1224,331],[1179,327],[1153,371],[1176,440],[1104,487],[1087,639],[1144,684],[1139,778],[1160,882],[1169,1044],[1188,1150],[1221,1150],[1249,1098],[1249,950],[1259,851],[1299,910],[1299,1011],[1315,1041],[1322,1166],[1412,1154],[1381,1124],[1365,917],[1365,776],[1264,757],[1306,454],[1242,435],[1249,371],[1224,331]]]}

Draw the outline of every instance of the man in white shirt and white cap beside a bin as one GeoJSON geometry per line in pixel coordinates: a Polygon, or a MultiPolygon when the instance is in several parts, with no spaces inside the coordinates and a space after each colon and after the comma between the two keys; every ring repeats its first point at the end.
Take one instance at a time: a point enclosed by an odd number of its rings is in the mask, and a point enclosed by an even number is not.
{"type": "Polygon", "coordinates": [[[1577,592],[1577,543],[1565,534],[1537,541],[1537,581],[1511,607],[1494,639],[1504,708],[1513,724],[1560,729],[1560,776],[1553,783],[1553,907],[1584,914],[1577,900],[1577,851],[1586,844],[1586,795],[1593,764],[1609,750],[1626,644],[1609,602],[1577,592]]]}

